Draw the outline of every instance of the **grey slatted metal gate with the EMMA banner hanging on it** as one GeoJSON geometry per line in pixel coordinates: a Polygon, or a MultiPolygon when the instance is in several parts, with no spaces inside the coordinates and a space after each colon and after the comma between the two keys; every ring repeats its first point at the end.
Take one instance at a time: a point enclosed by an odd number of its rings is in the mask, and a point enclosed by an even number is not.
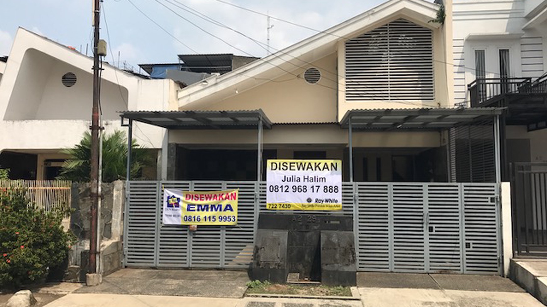
{"type": "Polygon", "coordinates": [[[156,268],[247,267],[258,220],[258,183],[130,181],[124,218],[124,266],[156,268]],[[239,189],[235,226],[162,225],[164,188],[194,191],[239,189]]]}

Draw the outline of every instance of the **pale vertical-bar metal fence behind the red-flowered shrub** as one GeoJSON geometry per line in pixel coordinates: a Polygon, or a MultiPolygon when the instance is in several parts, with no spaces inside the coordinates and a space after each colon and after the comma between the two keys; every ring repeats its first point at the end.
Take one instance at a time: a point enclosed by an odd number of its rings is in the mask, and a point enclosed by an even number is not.
{"type": "Polygon", "coordinates": [[[26,196],[38,209],[68,209],[71,207],[72,182],[69,180],[5,180],[0,190],[24,189],[26,196]]]}

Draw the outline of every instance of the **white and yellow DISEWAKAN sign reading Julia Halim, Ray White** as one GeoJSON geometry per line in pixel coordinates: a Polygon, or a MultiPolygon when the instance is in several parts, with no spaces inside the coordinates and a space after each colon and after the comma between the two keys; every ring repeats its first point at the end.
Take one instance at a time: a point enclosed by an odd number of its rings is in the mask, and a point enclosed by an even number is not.
{"type": "Polygon", "coordinates": [[[267,160],[266,209],[342,210],[342,161],[267,160]]]}

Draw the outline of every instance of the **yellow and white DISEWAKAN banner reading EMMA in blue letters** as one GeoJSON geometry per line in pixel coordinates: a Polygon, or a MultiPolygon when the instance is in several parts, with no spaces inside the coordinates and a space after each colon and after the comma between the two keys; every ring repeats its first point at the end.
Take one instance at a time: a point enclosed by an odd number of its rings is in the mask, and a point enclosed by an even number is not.
{"type": "Polygon", "coordinates": [[[166,225],[236,225],[238,190],[186,192],[164,189],[166,225]]]}

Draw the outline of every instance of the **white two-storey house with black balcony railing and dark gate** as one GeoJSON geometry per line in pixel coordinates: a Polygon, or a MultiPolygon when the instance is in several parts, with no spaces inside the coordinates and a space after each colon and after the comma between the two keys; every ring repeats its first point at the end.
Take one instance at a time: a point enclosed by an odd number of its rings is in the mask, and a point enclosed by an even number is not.
{"type": "MultiPolygon", "coordinates": [[[[502,178],[510,180],[513,191],[514,252],[545,257],[547,1],[506,1],[494,7],[490,1],[456,0],[453,16],[456,104],[507,108],[501,160],[502,178]]],[[[484,137],[477,129],[460,132],[469,135],[468,143],[484,137]]]]}

